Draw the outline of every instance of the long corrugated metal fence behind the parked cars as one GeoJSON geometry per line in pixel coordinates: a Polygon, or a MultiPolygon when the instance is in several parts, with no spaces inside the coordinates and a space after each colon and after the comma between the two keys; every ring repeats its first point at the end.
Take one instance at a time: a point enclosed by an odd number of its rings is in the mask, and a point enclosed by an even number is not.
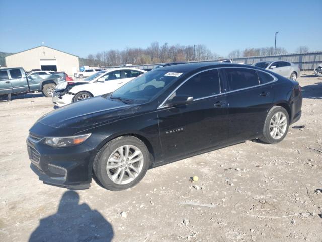
{"type": "MultiPolygon", "coordinates": [[[[232,59],[232,62],[252,65],[253,63],[260,62],[260,61],[277,61],[277,60],[295,63],[300,67],[301,70],[313,70],[320,63],[322,63],[322,52],[308,52],[305,54],[285,54],[285,55],[241,57],[241,58],[232,59]]],[[[213,59],[210,61],[193,61],[193,62],[217,62],[217,61],[220,61],[220,59],[213,59]]],[[[133,65],[130,67],[135,67],[135,68],[139,68],[139,69],[152,69],[160,64],[161,63],[133,65]]],[[[117,67],[124,67],[124,66],[117,66],[117,67]]],[[[106,67],[106,68],[111,68],[111,67],[106,67]]]]}

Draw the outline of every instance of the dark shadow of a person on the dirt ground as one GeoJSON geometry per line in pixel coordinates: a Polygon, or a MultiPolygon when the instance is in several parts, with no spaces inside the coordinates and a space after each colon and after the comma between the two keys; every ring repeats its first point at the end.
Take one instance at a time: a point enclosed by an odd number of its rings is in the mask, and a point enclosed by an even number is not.
{"type": "Polygon", "coordinates": [[[79,204],[79,195],[67,191],[61,197],[58,211],[40,220],[29,241],[111,241],[111,224],[86,203],[79,204]]]}

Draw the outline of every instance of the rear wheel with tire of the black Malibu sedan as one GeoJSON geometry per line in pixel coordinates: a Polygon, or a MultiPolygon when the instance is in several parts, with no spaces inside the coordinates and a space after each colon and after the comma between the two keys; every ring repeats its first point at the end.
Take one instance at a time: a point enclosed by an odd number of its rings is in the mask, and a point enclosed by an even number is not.
{"type": "Polygon", "coordinates": [[[267,114],[260,140],[268,144],[276,144],[285,138],[288,126],[289,116],[285,108],[274,106],[267,114]]]}

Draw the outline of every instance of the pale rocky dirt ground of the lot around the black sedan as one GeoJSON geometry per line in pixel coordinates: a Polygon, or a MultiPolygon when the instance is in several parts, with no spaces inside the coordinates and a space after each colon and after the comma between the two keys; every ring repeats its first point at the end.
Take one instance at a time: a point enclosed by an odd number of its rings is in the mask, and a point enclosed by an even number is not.
{"type": "Polygon", "coordinates": [[[51,99],[0,102],[0,241],[322,241],[322,78],[302,72],[298,81],[294,125],[305,128],[290,128],[283,142],[247,141],[154,168],[121,192],[94,181],[82,191],[44,185],[25,140],[51,99]]]}

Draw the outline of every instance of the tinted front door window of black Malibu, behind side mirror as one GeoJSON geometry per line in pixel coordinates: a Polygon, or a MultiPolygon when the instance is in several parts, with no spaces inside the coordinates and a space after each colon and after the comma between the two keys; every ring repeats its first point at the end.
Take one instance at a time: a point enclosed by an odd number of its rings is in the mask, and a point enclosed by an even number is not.
{"type": "Polygon", "coordinates": [[[176,90],[170,99],[176,95],[187,95],[194,99],[213,96],[220,93],[218,70],[199,73],[176,90]]]}

